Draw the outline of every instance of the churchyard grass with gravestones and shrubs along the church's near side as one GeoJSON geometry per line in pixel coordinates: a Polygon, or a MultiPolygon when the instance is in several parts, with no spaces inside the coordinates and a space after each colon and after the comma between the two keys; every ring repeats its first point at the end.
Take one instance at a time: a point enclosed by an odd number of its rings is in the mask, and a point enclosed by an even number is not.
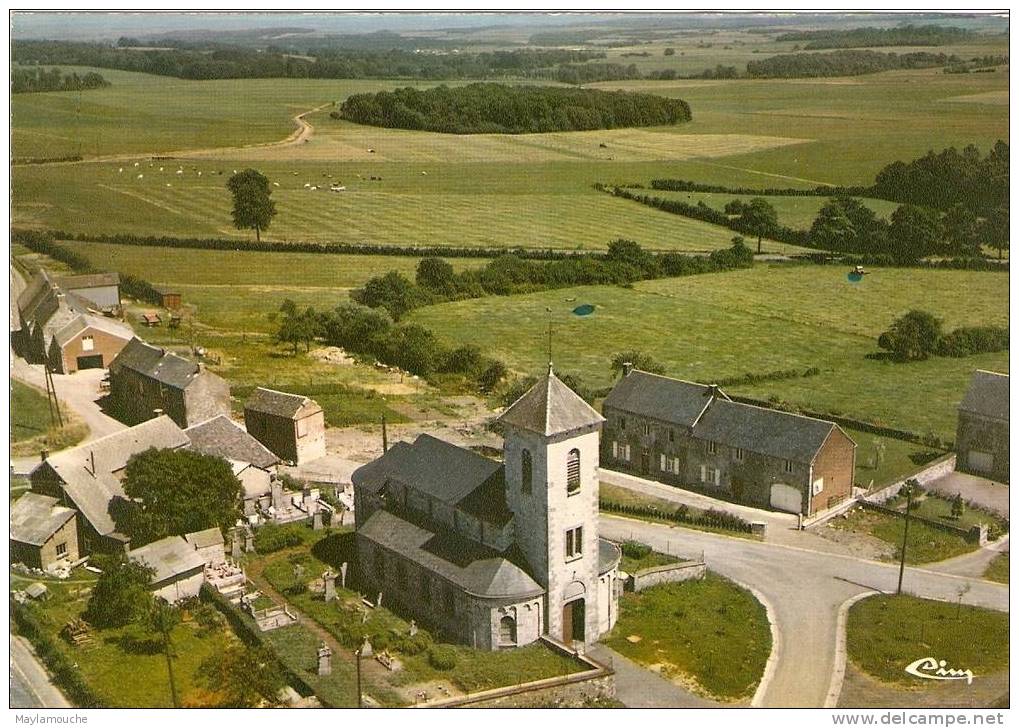
{"type": "Polygon", "coordinates": [[[425,636],[422,630],[417,638],[409,638],[410,623],[400,616],[385,608],[373,609],[368,613],[368,620],[362,622],[361,596],[357,592],[337,587],[336,602],[327,604],[321,594],[303,588],[320,577],[327,564],[337,569],[340,560],[352,558],[350,549],[350,536],[333,531],[311,543],[310,548],[270,555],[262,561],[262,574],[299,610],[352,651],[361,644],[363,635],[369,635],[376,651],[388,648],[399,658],[404,669],[387,675],[386,682],[376,685],[374,690],[370,688],[374,696],[384,699],[389,695],[391,700],[395,688],[430,680],[448,680],[465,692],[476,692],[583,669],[580,664],[541,644],[487,652],[443,642],[444,648],[455,654],[455,666],[450,670],[437,670],[428,661],[431,636],[425,636]]]}

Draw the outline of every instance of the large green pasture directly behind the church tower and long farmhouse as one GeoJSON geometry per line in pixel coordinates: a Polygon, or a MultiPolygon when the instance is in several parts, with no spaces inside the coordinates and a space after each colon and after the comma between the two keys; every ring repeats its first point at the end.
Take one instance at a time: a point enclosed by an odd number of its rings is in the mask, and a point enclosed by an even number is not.
{"type": "Polygon", "coordinates": [[[956,407],[974,369],[1007,371],[1007,353],[909,364],[868,358],[898,315],[922,308],[945,325],[1008,323],[1008,276],[880,269],[853,284],[839,266],[758,265],[752,270],[488,298],[421,309],[412,320],[477,344],[522,373],[545,360],[546,308],[559,371],[611,382],[613,352],[642,350],[672,376],[717,381],[745,373],[817,367],[815,376],[728,389],[952,438],[956,407]],[[596,306],[587,317],[571,311],[596,306]]]}

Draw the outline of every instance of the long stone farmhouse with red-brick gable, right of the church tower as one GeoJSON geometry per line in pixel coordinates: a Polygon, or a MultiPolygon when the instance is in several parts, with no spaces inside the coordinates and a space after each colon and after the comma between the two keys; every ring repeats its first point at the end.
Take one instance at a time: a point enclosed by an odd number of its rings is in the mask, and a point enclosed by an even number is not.
{"type": "Polygon", "coordinates": [[[856,444],[834,422],[628,370],[605,398],[608,467],[810,516],[849,498],[856,444]]]}

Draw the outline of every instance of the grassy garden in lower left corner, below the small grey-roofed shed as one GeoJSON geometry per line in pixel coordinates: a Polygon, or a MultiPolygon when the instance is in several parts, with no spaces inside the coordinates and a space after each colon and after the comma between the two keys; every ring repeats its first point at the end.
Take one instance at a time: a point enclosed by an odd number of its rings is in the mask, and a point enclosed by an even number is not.
{"type": "MultiPolygon", "coordinates": [[[[13,588],[24,588],[37,577],[24,578],[11,573],[13,588]]],[[[137,625],[93,631],[89,646],[75,647],[59,636],[60,630],[85,610],[88,596],[84,589],[94,582],[94,575],[79,570],[71,582],[47,581],[48,602],[37,605],[52,636],[63,645],[83,677],[103,701],[111,708],[172,708],[162,647],[151,634],[137,625]],[[84,581],[85,583],[79,583],[84,581]]],[[[194,622],[178,624],[171,632],[173,673],[177,694],[186,700],[198,687],[195,673],[204,660],[220,654],[236,637],[228,627],[204,633],[194,622]]]]}

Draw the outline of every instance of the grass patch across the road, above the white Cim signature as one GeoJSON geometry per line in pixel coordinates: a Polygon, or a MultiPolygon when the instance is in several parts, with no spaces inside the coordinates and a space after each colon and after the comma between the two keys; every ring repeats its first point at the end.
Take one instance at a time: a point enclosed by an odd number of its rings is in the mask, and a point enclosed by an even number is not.
{"type": "Polygon", "coordinates": [[[1005,612],[909,595],[876,595],[849,610],[846,645],[853,663],[875,678],[920,682],[905,672],[924,656],[949,667],[985,675],[1008,667],[1009,616],[1005,612]]]}

